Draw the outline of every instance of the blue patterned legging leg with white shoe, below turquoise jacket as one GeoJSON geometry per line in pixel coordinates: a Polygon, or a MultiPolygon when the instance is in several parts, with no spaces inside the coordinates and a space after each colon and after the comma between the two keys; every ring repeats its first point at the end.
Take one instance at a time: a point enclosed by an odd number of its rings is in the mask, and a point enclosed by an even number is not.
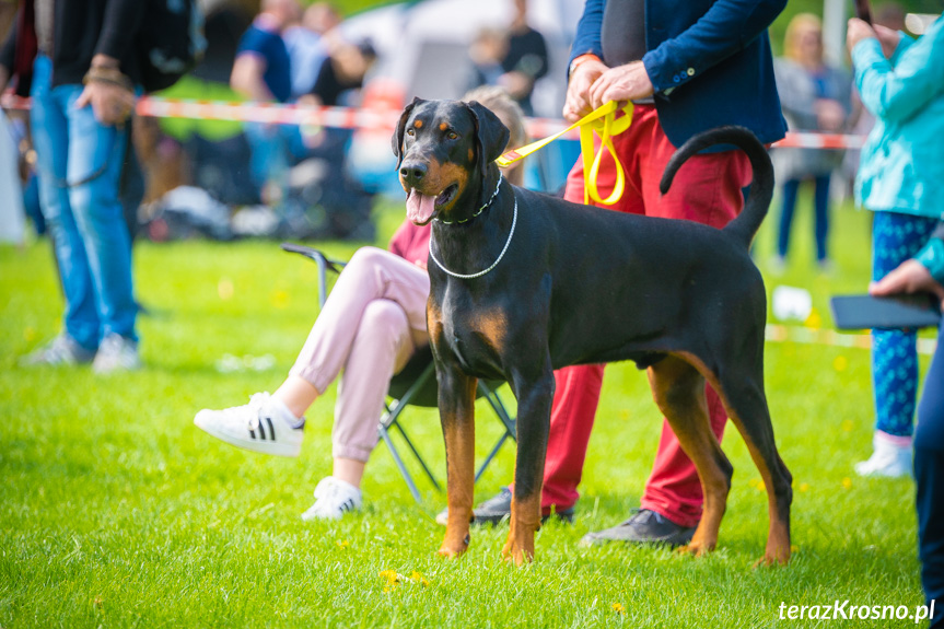
{"type": "MultiPolygon", "coordinates": [[[[913,257],[934,231],[936,220],[897,212],[875,212],[872,228],[872,279],[878,281],[913,257]]],[[[898,477],[911,473],[911,433],[918,395],[917,333],[872,330],[872,383],[875,395],[873,454],[855,464],[861,476],[898,477]]]]}

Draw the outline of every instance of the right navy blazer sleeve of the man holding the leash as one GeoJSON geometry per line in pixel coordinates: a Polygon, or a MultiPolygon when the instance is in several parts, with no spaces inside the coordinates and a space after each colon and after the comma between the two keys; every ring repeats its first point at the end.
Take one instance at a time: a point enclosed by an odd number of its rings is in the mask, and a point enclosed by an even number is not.
{"type": "Polygon", "coordinates": [[[695,24],[642,58],[653,88],[664,92],[699,77],[757,38],[785,5],[786,0],[718,0],[695,24]]]}

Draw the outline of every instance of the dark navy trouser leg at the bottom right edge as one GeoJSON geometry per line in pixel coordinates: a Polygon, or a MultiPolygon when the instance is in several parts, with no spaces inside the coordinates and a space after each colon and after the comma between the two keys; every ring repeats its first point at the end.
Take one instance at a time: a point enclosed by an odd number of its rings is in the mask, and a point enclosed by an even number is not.
{"type": "Polygon", "coordinates": [[[918,508],[918,556],[921,583],[930,605],[932,629],[944,628],[944,326],[931,359],[914,429],[914,480],[918,508]]]}

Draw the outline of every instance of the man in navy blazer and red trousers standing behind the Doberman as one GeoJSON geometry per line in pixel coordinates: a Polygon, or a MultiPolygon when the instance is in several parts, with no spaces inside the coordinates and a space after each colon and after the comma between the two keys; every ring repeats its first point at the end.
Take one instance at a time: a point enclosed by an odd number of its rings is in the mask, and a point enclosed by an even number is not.
{"type": "MultiPolygon", "coordinates": [[[[614,138],[626,175],[617,211],[687,219],[724,226],[744,206],[751,177],[739,151],[700,154],[686,163],[669,193],[659,180],[677,147],[723,125],[747,127],[769,143],[786,124],[773,77],[767,27],[784,0],[587,0],[571,51],[563,114],[578,120],[609,101],[636,104],[632,125],[614,138]]],[[[616,166],[605,158],[597,184],[609,194],[616,166]]],[[[564,198],[583,202],[581,161],[567,180],[564,198]]],[[[603,365],[556,373],[553,411],[545,464],[543,513],[558,513],[578,499],[586,446],[603,382],[603,365]]],[[[709,387],[708,408],[721,438],[726,412],[709,387]]],[[[475,511],[476,521],[500,520],[510,510],[503,491],[475,511]]],[[[701,517],[701,485],[667,422],[641,509],[622,524],[591,533],[604,540],[687,544],[701,517]]]]}

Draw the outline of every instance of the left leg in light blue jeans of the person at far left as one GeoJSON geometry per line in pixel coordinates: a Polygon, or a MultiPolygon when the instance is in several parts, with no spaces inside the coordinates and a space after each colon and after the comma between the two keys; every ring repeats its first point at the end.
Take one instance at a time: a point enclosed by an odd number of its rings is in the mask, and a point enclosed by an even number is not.
{"type": "Polygon", "coordinates": [[[75,224],[69,190],[61,185],[67,177],[68,119],[50,91],[50,73],[51,61],[48,57],[38,57],[34,65],[30,117],[38,166],[39,201],[59,264],[66,296],[66,333],[85,349],[95,351],[102,326],[85,245],[75,224]]]}

